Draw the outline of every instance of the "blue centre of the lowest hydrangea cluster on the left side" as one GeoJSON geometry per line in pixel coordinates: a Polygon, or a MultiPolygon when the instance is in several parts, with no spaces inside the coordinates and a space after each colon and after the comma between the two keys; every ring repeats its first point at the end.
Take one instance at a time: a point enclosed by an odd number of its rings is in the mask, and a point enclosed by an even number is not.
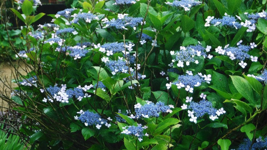
{"type": "Polygon", "coordinates": [[[101,119],[99,114],[90,112],[89,110],[82,113],[78,119],[81,120],[82,123],[87,123],[88,125],[100,125],[107,122],[107,120],[101,119]]]}

